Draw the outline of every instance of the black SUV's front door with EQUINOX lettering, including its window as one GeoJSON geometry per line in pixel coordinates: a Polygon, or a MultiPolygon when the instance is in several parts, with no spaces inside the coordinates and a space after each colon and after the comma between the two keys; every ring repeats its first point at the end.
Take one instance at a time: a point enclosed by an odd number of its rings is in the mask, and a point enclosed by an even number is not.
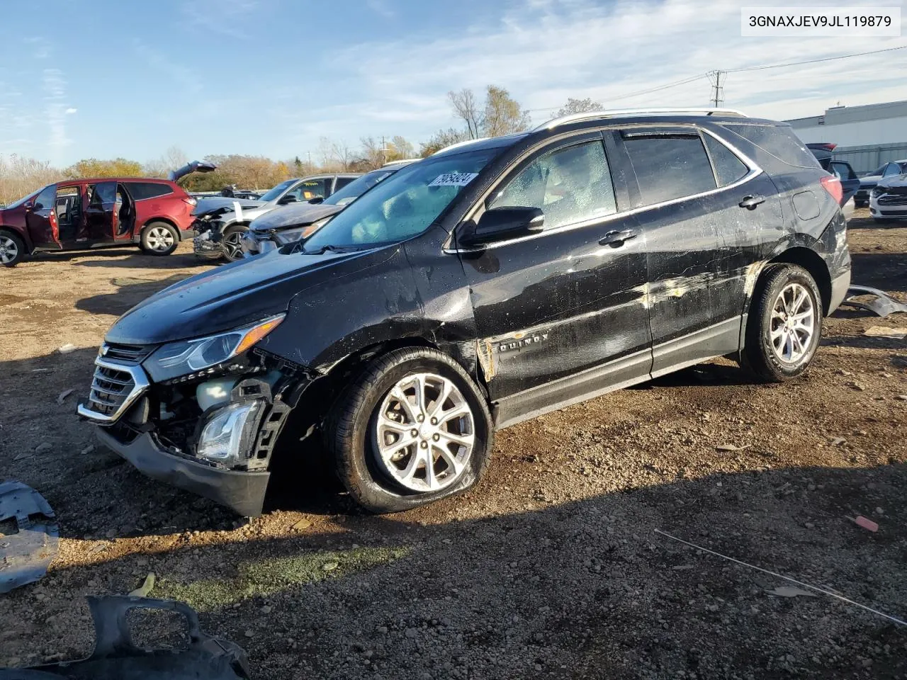
{"type": "Polygon", "coordinates": [[[626,197],[587,132],[535,152],[486,199],[545,216],[538,234],[461,254],[499,425],[648,376],[646,248],[619,214],[626,197]]]}

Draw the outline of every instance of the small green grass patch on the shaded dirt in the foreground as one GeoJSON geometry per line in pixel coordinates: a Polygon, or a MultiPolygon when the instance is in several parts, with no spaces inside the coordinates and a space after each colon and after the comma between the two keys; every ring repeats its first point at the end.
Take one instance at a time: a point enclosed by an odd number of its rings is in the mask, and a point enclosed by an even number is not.
{"type": "Polygon", "coordinates": [[[240,562],[233,578],[207,578],[188,584],[160,578],[153,595],[180,600],[199,611],[211,611],[248,597],[265,597],[292,586],[341,578],[392,562],[408,553],[406,548],[355,548],[258,559],[240,562]]]}

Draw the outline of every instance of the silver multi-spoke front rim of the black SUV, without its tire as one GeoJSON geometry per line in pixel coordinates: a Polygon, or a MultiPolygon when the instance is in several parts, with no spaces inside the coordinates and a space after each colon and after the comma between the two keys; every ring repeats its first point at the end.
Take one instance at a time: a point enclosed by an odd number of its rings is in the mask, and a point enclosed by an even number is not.
{"type": "Polygon", "coordinates": [[[475,445],[475,423],[460,389],[441,375],[407,375],[375,418],[376,458],[410,491],[440,491],[457,481],[475,445]]]}

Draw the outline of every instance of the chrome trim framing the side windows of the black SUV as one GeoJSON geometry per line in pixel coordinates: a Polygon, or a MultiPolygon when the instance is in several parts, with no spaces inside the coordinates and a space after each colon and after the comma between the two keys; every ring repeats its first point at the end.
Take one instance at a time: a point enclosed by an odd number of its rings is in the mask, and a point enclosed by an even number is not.
{"type": "MultiPolygon", "coordinates": [[[[736,146],[731,144],[729,141],[718,136],[713,131],[706,130],[705,128],[700,128],[698,125],[696,125],[694,123],[683,123],[683,124],[678,124],[678,123],[634,123],[632,125],[610,125],[610,126],[601,128],[600,131],[624,129],[624,128],[628,128],[628,127],[659,127],[659,128],[678,127],[683,130],[688,130],[688,131],[691,131],[694,133],[700,133],[700,134],[706,133],[707,135],[710,135],[715,140],[717,140],[718,143],[723,144],[727,148],[728,151],[731,151],[741,162],[743,162],[744,165],[746,165],[746,167],[749,169],[749,172],[747,172],[746,175],[741,177],[739,180],[736,180],[736,182],[732,182],[731,184],[726,184],[723,187],[716,187],[715,189],[709,189],[708,191],[702,191],[697,194],[683,196],[683,197],[680,197],[679,199],[663,200],[658,203],[652,203],[648,206],[639,206],[638,208],[619,210],[618,212],[615,212],[611,215],[605,215],[603,217],[592,218],[592,219],[585,219],[581,222],[565,224],[565,225],[561,225],[560,227],[555,227],[555,228],[551,228],[551,229],[544,229],[536,234],[527,234],[526,236],[521,236],[521,237],[517,237],[517,238],[508,238],[508,239],[502,240],[502,241],[495,241],[494,243],[490,243],[489,245],[484,246],[483,248],[450,248],[445,244],[445,247],[443,248],[444,253],[464,254],[464,255],[482,253],[486,250],[492,250],[493,248],[498,248],[501,246],[510,246],[513,243],[522,243],[523,241],[529,241],[529,240],[532,240],[533,238],[542,238],[542,237],[548,236],[549,234],[560,234],[564,231],[570,231],[571,229],[579,229],[579,228],[584,228],[584,227],[590,227],[592,225],[607,224],[608,222],[610,222],[614,219],[623,219],[623,218],[631,217],[633,215],[639,215],[639,213],[646,212],[647,210],[661,209],[661,208],[665,208],[667,206],[681,203],[685,200],[701,199],[706,196],[712,196],[714,194],[717,194],[719,191],[727,191],[729,189],[736,189],[737,187],[740,187],[740,186],[746,184],[746,182],[755,179],[756,177],[761,175],[764,171],[764,170],[762,170],[762,168],[760,168],[756,164],[755,160],[752,160],[751,158],[749,158],[746,155],[746,153],[737,149],[736,146]]],[[[596,130],[599,130],[599,129],[596,129],[596,130]]],[[[592,130],[590,130],[590,131],[592,131],[592,130]]],[[[583,131],[583,132],[585,132],[585,131],[583,131]]],[[[546,142],[553,141],[553,139],[557,139],[557,138],[552,138],[551,140],[546,140],[546,142]]],[[[705,149],[707,152],[705,144],[703,144],[703,149],[705,149]]],[[[525,156],[532,155],[532,153],[535,153],[535,151],[538,151],[538,150],[539,150],[539,147],[535,147],[531,151],[528,151],[525,154],[525,156]]],[[[525,156],[522,158],[525,158],[525,156]]],[[[514,165],[516,165],[519,162],[522,162],[522,158],[515,161],[514,165]]],[[[605,158],[607,159],[607,150],[605,153],[605,158]]],[[[711,160],[709,160],[709,164],[711,164],[711,160]]],[[[610,171],[610,163],[609,163],[609,171],[610,171]]],[[[717,179],[716,179],[716,184],[717,184],[717,179]]],[[[495,184],[492,188],[488,189],[480,199],[476,200],[475,206],[473,207],[473,209],[471,209],[467,213],[467,217],[464,218],[463,221],[461,221],[461,223],[459,225],[457,225],[456,228],[453,229],[453,233],[451,234],[451,237],[448,238],[447,243],[452,242],[453,235],[456,233],[456,229],[460,228],[460,226],[464,222],[467,222],[470,219],[472,219],[475,212],[484,206],[485,200],[493,193],[493,191],[495,189],[498,188],[498,186],[500,186],[500,185],[495,184]]]]}

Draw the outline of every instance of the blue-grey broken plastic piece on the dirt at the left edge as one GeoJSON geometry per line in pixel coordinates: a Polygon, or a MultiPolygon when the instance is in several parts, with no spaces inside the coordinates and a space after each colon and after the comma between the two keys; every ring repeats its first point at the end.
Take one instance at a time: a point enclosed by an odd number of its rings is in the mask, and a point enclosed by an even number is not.
{"type": "Polygon", "coordinates": [[[59,545],[44,496],[21,481],[0,484],[0,594],[43,577],[59,545]]]}

